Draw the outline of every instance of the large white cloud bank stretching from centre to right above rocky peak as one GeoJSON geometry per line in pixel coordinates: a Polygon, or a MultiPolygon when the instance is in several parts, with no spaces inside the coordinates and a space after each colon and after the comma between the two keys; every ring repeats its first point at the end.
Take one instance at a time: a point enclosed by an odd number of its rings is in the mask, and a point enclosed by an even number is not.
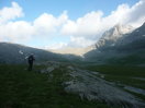
{"type": "Polygon", "coordinates": [[[86,39],[98,40],[103,32],[119,23],[134,27],[141,26],[145,22],[144,10],[145,0],[141,0],[132,7],[120,4],[108,16],[103,16],[102,11],[92,11],[76,21],[67,21],[62,28],[62,34],[74,36],[74,38],[83,36],[86,39]]]}

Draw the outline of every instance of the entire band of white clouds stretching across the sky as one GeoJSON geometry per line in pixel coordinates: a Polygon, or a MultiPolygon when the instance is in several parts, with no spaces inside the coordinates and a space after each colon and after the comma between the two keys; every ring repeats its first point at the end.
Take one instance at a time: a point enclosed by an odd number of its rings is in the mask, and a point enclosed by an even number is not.
{"type": "MultiPolygon", "coordinates": [[[[140,0],[134,5],[120,4],[116,10],[109,15],[102,11],[92,11],[77,20],[70,20],[67,11],[58,16],[49,13],[42,13],[32,22],[16,21],[24,16],[22,8],[12,2],[11,7],[0,10],[0,41],[29,43],[42,40],[45,37],[62,38],[58,44],[53,44],[49,48],[62,47],[86,47],[94,44],[103,32],[113,27],[118,23],[130,24],[134,27],[145,22],[145,0],[140,0]],[[70,38],[68,43],[63,41],[63,36],[70,38]]],[[[42,40],[43,41],[43,40],[42,40]]]]}

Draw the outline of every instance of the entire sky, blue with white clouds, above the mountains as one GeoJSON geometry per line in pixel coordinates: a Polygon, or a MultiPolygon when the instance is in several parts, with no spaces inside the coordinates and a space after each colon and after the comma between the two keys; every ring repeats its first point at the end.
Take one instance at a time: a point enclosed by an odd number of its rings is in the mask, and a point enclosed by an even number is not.
{"type": "Polygon", "coordinates": [[[0,0],[0,41],[87,47],[116,24],[141,26],[144,10],[145,0],[0,0]]]}

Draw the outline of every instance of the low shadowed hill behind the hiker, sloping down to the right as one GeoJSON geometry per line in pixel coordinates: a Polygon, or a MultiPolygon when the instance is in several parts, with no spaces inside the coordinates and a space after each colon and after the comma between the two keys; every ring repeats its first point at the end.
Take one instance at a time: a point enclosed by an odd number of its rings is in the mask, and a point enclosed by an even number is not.
{"type": "Polygon", "coordinates": [[[26,57],[33,53],[36,62],[66,61],[67,59],[57,53],[31,48],[18,44],[0,43],[0,63],[25,63],[26,57]]]}

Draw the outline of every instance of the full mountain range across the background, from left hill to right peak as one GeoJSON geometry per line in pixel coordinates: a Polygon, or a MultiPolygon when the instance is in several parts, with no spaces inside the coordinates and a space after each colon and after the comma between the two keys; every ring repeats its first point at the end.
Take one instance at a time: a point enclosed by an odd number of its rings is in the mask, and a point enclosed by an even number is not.
{"type": "Polygon", "coordinates": [[[0,63],[24,63],[25,57],[34,53],[36,62],[86,61],[99,64],[145,64],[145,23],[136,29],[132,26],[115,25],[107,31],[96,45],[79,50],[79,56],[83,58],[71,55],[70,50],[78,55],[79,49],[69,48],[65,51],[67,55],[60,55],[18,44],[0,43],[0,63]]]}

